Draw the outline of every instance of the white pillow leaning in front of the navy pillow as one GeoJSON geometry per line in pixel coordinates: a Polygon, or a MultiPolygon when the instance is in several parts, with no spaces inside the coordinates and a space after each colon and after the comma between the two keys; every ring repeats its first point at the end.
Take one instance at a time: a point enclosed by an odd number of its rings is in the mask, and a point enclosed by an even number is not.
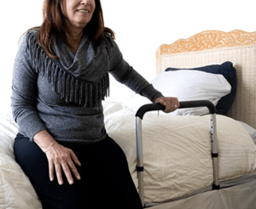
{"type": "MultiPolygon", "coordinates": [[[[165,97],[177,97],[179,101],[210,100],[214,105],[231,90],[230,83],[224,76],[203,71],[164,71],[154,78],[152,84],[165,97]]],[[[148,103],[151,102],[136,93],[125,101],[125,105],[134,109],[148,103]]],[[[208,113],[207,107],[199,107],[178,109],[170,114],[203,116],[208,113]]]]}

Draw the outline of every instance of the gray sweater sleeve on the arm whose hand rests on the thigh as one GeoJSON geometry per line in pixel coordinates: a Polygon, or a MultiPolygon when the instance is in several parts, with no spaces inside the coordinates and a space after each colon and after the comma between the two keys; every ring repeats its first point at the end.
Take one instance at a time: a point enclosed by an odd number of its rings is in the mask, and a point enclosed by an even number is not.
{"type": "Polygon", "coordinates": [[[11,107],[20,133],[32,141],[33,136],[45,127],[37,113],[38,74],[34,71],[32,59],[26,54],[26,38],[15,58],[11,107]]]}

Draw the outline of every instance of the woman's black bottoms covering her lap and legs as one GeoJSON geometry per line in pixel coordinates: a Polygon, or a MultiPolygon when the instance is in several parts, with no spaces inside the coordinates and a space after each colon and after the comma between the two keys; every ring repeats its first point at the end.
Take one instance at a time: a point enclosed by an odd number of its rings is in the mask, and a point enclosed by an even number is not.
{"type": "Polygon", "coordinates": [[[20,133],[15,138],[15,159],[30,179],[44,209],[143,208],[125,153],[113,138],[107,136],[92,145],[65,146],[73,150],[81,162],[82,166],[77,166],[81,180],[73,175],[74,183],[68,184],[62,170],[63,184],[60,185],[56,173],[54,181],[49,180],[49,163],[38,144],[20,133]]]}

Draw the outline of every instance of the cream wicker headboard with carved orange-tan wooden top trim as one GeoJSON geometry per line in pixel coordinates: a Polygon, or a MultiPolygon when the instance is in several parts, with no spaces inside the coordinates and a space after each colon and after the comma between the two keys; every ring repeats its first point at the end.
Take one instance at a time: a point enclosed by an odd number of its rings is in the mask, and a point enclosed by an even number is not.
{"type": "Polygon", "coordinates": [[[256,32],[203,31],[157,49],[157,73],[167,67],[195,68],[230,61],[237,91],[229,116],[256,128],[256,32]]]}

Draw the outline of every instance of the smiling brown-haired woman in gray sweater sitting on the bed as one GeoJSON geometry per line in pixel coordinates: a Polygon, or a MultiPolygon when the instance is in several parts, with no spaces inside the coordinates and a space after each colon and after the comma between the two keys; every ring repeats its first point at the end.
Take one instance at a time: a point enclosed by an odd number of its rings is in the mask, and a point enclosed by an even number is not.
{"type": "Polygon", "coordinates": [[[122,58],[100,0],[45,0],[44,22],[16,55],[12,110],[16,161],[44,208],[142,208],[123,150],[108,137],[102,99],[108,72],[176,110],[122,58]]]}

